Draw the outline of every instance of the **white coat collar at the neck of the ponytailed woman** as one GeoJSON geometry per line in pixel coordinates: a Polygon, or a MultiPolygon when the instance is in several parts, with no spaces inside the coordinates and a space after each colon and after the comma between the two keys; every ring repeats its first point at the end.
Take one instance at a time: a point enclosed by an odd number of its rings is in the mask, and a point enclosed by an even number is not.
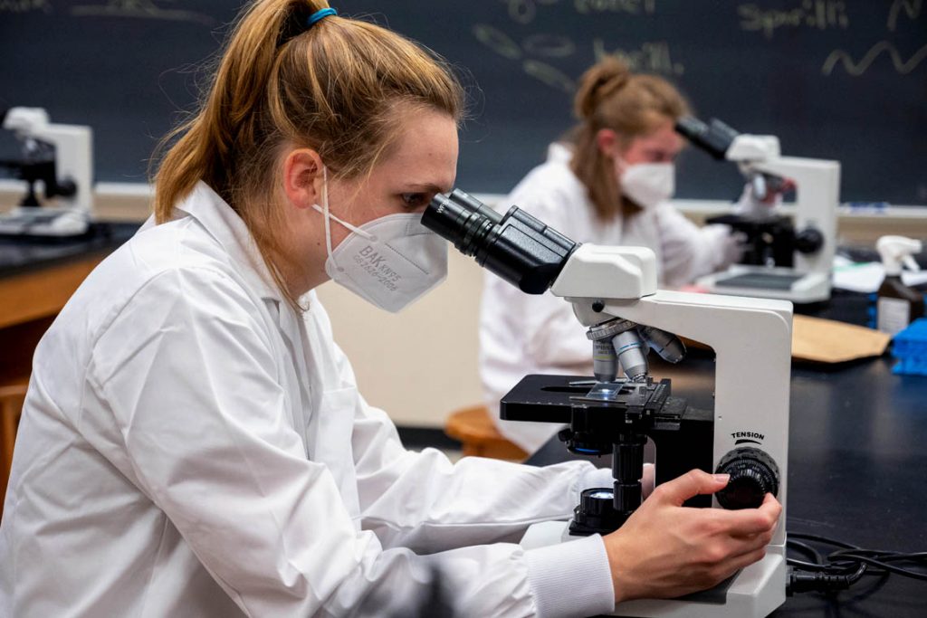
{"type": "MultiPolygon", "coordinates": [[[[232,209],[222,196],[212,190],[209,184],[199,181],[190,195],[174,207],[199,221],[215,238],[228,255],[241,265],[239,273],[261,298],[283,303],[284,298],[273,283],[271,272],[260,255],[254,237],[248,231],[245,221],[232,209]]],[[[180,219],[175,212],[175,219],[180,219]]]]}

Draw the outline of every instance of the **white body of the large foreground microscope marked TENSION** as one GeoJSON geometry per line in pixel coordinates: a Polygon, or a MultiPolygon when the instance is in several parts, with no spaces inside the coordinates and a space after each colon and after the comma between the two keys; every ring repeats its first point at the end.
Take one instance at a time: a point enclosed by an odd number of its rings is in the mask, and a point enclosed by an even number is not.
{"type": "MultiPolygon", "coordinates": [[[[614,317],[712,347],[717,355],[713,465],[717,469],[722,458],[746,442],[749,448],[764,451],[779,469],[777,498],[783,509],[779,527],[766,557],[736,574],[723,602],[638,599],[617,605],[615,615],[759,618],[773,612],[784,602],[786,586],[792,304],[657,290],[654,253],[641,247],[579,246],[551,291],[573,303],[579,322],[586,326],[614,317]]],[[[658,448],[657,469],[659,465],[658,448]]],[[[713,508],[721,508],[717,498],[713,508]]],[[[539,547],[567,540],[566,526],[565,522],[536,524],[522,544],[539,547]]]]}

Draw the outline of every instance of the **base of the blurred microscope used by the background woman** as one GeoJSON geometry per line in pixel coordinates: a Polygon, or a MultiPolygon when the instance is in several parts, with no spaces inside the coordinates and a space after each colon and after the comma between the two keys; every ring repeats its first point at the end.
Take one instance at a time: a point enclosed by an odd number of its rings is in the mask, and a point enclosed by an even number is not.
{"type": "Polygon", "coordinates": [[[796,304],[831,297],[831,273],[799,272],[789,268],[735,265],[695,282],[712,294],[779,298],[796,304]]]}

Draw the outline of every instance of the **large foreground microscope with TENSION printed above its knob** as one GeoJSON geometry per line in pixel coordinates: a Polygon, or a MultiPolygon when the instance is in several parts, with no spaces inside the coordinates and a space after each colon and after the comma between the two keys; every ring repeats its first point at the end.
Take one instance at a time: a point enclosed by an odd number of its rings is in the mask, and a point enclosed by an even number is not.
{"type": "MultiPolygon", "coordinates": [[[[501,215],[463,191],[438,195],[422,218],[489,271],[527,294],[550,290],[589,328],[593,376],[528,375],[502,398],[502,418],[568,423],[573,452],[611,455],[614,485],[583,492],[572,522],[532,525],[526,548],[618,529],[641,505],[643,446],[656,446],[656,483],[701,468],[730,473],[714,496],[687,506],[786,504],[792,305],[775,299],[656,289],[654,252],[580,245],[517,207],[501,215]],[[649,375],[647,353],[682,359],[676,334],[717,355],[715,410],[695,410],[649,375]],[[618,368],[624,377],[618,378],[618,368]]],[[[680,599],[636,599],[619,616],[754,618],[785,600],[785,516],[766,557],[711,590],[680,599]]]]}

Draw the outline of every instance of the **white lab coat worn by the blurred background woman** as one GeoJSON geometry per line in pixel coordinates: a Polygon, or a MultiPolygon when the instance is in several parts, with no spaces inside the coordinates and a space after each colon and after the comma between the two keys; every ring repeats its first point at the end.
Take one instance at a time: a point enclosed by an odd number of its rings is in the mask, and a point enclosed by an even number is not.
{"type": "MultiPolygon", "coordinates": [[[[581,243],[650,247],[662,285],[688,284],[736,258],[736,241],[727,226],[700,228],[668,202],[627,220],[599,220],[586,187],[569,168],[571,156],[565,145],[551,145],[547,161],[515,186],[502,208],[523,208],[581,243]]],[[[502,435],[528,452],[537,450],[561,426],[502,421],[499,399],[528,373],[591,375],[592,344],[586,329],[562,298],[524,294],[488,272],[479,341],[480,376],[490,416],[502,435]]]]}

